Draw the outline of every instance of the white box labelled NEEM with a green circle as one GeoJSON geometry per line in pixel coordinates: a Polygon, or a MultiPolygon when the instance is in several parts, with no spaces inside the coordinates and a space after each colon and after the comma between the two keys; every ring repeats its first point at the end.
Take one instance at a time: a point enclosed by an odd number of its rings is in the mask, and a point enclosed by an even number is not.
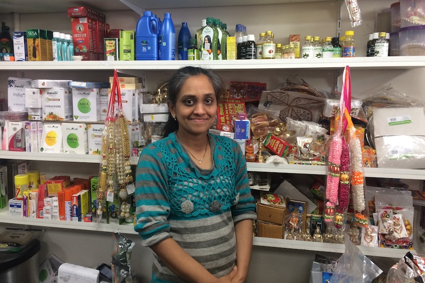
{"type": "Polygon", "coordinates": [[[88,154],[87,125],[62,123],[62,142],[65,154],[88,154]]]}

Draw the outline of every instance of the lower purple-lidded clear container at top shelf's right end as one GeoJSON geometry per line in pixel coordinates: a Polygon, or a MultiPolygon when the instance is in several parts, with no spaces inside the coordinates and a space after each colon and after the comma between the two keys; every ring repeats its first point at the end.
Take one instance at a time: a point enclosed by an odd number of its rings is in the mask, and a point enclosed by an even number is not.
{"type": "Polygon", "coordinates": [[[425,25],[401,28],[398,36],[400,56],[425,55],[425,25]]]}

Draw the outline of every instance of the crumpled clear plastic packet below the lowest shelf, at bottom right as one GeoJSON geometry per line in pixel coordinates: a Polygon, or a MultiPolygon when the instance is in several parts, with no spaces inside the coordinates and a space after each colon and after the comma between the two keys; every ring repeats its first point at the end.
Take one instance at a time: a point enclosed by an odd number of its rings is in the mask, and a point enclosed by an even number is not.
{"type": "Polygon", "coordinates": [[[346,237],[345,252],[338,259],[329,283],[370,283],[381,273],[382,270],[346,237]]]}

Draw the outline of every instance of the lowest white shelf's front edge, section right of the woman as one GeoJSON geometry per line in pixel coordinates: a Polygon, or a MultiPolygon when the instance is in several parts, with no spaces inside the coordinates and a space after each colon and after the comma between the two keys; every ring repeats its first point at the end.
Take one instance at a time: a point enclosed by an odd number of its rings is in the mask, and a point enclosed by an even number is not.
{"type": "MultiPolygon", "coordinates": [[[[254,246],[261,246],[261,247],[315,251],[315,252],[336,252],[336,253],[345,252],[345,246],[343,244],[304,242],[304,241],[296,241],[296,240],[273,239],[273,238],[262,238],[262,237],[254,237],[252,244],[254,246]]],[[[406,254],[406,252],[412,252],[416,254],[414,250],[389,249],[389,248],[365,247],[365,246],[357,246],[357,247],[364,255],[368,255],[368,256],[401,258],[403,255],[406,254]]]]}

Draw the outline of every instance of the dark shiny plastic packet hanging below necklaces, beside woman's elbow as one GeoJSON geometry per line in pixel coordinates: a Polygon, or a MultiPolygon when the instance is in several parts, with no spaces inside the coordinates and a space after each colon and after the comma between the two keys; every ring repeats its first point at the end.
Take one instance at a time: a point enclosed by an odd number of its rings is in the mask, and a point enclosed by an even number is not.
{"type": "Polygon", "coordinates": [[[131,252],[135,243],[121,233],[113,233],[114,246],[112,249],[112,283],[138,283],[131,270],[131,252]]]}

